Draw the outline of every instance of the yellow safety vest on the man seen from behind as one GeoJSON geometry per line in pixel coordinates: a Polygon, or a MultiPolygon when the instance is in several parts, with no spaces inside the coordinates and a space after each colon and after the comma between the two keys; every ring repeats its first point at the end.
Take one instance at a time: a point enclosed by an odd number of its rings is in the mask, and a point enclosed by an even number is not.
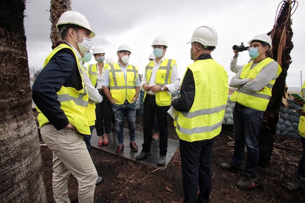
{"type": "Polygon", "coordinates": [[[221,131],[229,93],[228,74],[213,59],[197,60],[188,68],[195,81],[194,103],[189,112],[176,113],[174,126],[182,140],[211,139],[221,131]]]}

